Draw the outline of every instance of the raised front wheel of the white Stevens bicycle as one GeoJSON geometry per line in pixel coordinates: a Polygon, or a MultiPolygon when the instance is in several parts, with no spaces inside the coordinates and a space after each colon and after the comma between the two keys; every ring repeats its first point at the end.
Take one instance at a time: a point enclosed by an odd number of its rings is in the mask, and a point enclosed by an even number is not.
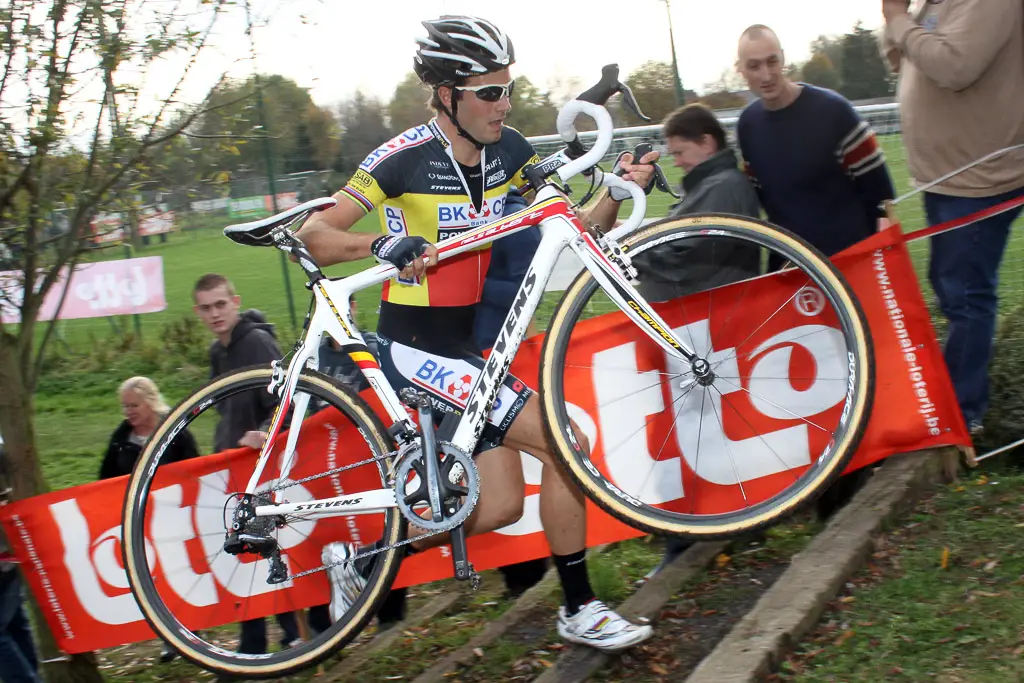
{"type": "Polygon", "coordinates": [[[793,233],[738,216],[667,219],[623,247],[641,296],[698,359],[670,357],[584,270],[540,371],[566,470],[627,524],[701,540],[816,498],[850,463],[873,394],[870,337],[840,272],[793,233]]]}

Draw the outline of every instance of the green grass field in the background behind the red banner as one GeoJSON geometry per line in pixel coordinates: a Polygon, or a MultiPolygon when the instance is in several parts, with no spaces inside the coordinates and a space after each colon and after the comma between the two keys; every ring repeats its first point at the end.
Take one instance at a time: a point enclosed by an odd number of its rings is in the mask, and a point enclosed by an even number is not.
{"type": "MultiPolygon", "coordinates": [[[[903,150],[898,136],[883,139],[890,171],[898,194],[910,188],[903,150]]],[[[665,166],[670,179],[678,183],[678,169],[665,166]]],[[[573,199],[581,199],[587,188],[585,181],[573,182],[573,199]]],[[[649,217],[666,215],[675,200],[652,193],[648,205],[649,217]]],[[[628,207],[623,210],[627,215],[628,207]]],[[[925,224],[920,198],[911,198],[899,206],[899,217],[906,231],[925,224]]],[[[63,487],[92,480],[98,468],[98,458],[110,433],[121,420],[116,395],[120,382],[131,375],[153,377],[173,404],[198,388],[206,379],[208,368],[206,347],[208,333],[199,326],[191,311],[191,287],[206,272],[221,272],[234,283],[242,296],[243,307],[256,307],[275,324],[280,345],[287,350],[295,340],[285,290],[281,252],[272,249],[242,247],[225,239],[220,230],[230,222],[226,217],[204,216],[206,227],[173,233],[166,244],[145,248],[139,256],[161,256],[164,264],[167,308],[140,316],[141,349],[130,345],[114,332],[117,326],[131,330],[130,319],[104,318],[66,321],[58,325],[62,343],[55,344],[62,356],[45,373],[36,395],[38,416],[36,427],[44,469],[53,487],[63,487]]],[[[376,214],[366,217],[355,227],[376,231],[376,214]]],[[[912,243],[911,254],[922,280],[926,298],[934,297],[925,280],[928,246],[926,241],[912,243]]],[[[1004,306],[1020,302],[1024,295],[1024,268],[1019,265],[1024,254],[1020,231],[1012,238],[1001,273],[1004,306]]],[[[120,248],[104,250],[101,258],[122,258],[120,248]]],[[[371,259],[345,263],[329,268],[330,275],[350,274],[372,264],[371,259]]],[[[309,304],[302,271],[288,264],[290,290],[296,316],[301,324],[309,304]]],[[[377,322],[380,288],[356,295],[357,322],[373,330],[377,322]]],[[[557,299],[550,293],[551,301],[557,299]]],[[[546,301],[550,307],[551,301],[546,301]]],[[[541,325],[543,329],[543,324],[541,325]]]]}

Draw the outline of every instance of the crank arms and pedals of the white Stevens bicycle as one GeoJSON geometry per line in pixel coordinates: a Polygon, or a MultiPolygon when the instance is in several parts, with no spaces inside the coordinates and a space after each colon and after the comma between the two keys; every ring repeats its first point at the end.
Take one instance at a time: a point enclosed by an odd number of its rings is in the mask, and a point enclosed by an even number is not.
{"type": "MultiPolygon", "coordinates": [[[[456,492],[453,490],[453,483],[442,474],[437,433],[434,430],[433,404],[427,394],[411,388],[403,389],[400,392],[400,398],[407,405],[416,410],[420,422],[423,466],[430,502],[430,515],[434,523],[442,523],[446,516],[445,501],[456,495],[456,492]]],[[[398,482],[398,485],[404,485],[404,482],[398,482]]],[[[396,493],[398,496],[402,495],[400,490],[396,493]]],[[[454,511],[453,509],[450,512],[454,511]]],[[[470,586],[475,591],[480,587],[480,574],[473,569],[473,563],[469,561],[466,551],[465,522],[453,527],[449,533],[452,537],[452,564],[455,569],[455,578],[458,581],[469,581],[470,586]]]]}

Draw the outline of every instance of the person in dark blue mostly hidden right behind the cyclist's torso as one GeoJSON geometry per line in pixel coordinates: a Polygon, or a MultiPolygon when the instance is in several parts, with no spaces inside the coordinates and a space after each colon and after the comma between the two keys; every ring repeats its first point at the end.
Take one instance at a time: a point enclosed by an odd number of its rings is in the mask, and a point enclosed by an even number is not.
{"type": "MultiPolygon", "coordinates": [[[[516,190],[511,189],[505,200],[504,215],[525,208],[526,201],[516,190]]],[[[519,230],[492,243],[490,264],[487,266],[483,291],[480,293],[480,301],[476,304],[473,317],[473,341],[481,355],[498,339],[498,333],[512,308],[512,302],[519,292],[519,287],[526,276],[526,270],[529,269],[540,244],[541,230],[535,228],[519,230]]],[[[531,321],[526,335],[534,334],[537,334],[537,329],[531,321]]],[[[525,562],[507,564],[498,567],[498,570],[505,579],[508,595],[518,597],[544,578],[548,570],[548,560],[539,557],[525,562]]]]}

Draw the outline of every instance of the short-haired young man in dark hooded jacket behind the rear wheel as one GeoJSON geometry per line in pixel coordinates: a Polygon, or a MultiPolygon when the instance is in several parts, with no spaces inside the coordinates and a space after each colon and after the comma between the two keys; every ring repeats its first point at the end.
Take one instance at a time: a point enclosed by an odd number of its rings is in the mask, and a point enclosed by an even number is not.
{"type": "MultiPolygon", "coordinates": [[[[269,365],[281,358],[273,326],[255,308],[240,313],[242,297],[236,294],[227,278],[217,273],[200,278],[193,288],[193,301],[196,314],[216,337],[210,345],[210,377],[248,366],[269,365]]],[[[220,420],[214,428],[214,452],[240,446],[261,449],[276,402],[276,397],[264,390],[246,391],[219,401],[220,420]]],[[[282,647],[298,642],[298,623],[293,612],[278,614],[278,624],[284,632],[282,647]]],[[[239,651],[245,654],[266,652],[263,618],[242,623],[239,651]]]]}

